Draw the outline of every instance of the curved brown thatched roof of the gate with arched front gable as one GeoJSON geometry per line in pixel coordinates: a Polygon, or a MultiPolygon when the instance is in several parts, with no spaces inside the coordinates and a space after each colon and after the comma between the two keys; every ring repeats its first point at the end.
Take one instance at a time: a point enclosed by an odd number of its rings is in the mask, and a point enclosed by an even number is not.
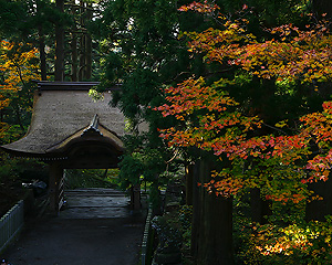
{"type": "Polygon", "coordinates": [[[90,141],[110,145],[121,153],[125,118],[108,105],[111,92],[97,102],[87,95],[96,84],[40,82],[28,134],[1,148],[15,156],[52,158],[64,156],[70,145],[90,141]]]}

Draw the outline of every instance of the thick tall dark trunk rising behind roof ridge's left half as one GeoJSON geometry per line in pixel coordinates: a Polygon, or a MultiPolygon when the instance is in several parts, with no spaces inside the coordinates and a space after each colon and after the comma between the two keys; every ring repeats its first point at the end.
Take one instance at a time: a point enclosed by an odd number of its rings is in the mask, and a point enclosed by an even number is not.
{"type": "MultiPolygon", "coordinates": [[[[56,8],[64,12],[64,0],[56,0],[56,8]]],[[[55,81],[64,80],[64,29],[61,22],[55,23],[55,81]]]]}

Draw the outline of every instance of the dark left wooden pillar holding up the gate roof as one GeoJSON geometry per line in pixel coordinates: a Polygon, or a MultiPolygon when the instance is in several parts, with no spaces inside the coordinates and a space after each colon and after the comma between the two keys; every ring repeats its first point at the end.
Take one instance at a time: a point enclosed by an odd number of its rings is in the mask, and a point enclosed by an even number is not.
{"type": "Polygon", "coordinates": [[[63,168],[59,162],[50,163],[50,211],[58,215],[63,204],[63,168]]]}

